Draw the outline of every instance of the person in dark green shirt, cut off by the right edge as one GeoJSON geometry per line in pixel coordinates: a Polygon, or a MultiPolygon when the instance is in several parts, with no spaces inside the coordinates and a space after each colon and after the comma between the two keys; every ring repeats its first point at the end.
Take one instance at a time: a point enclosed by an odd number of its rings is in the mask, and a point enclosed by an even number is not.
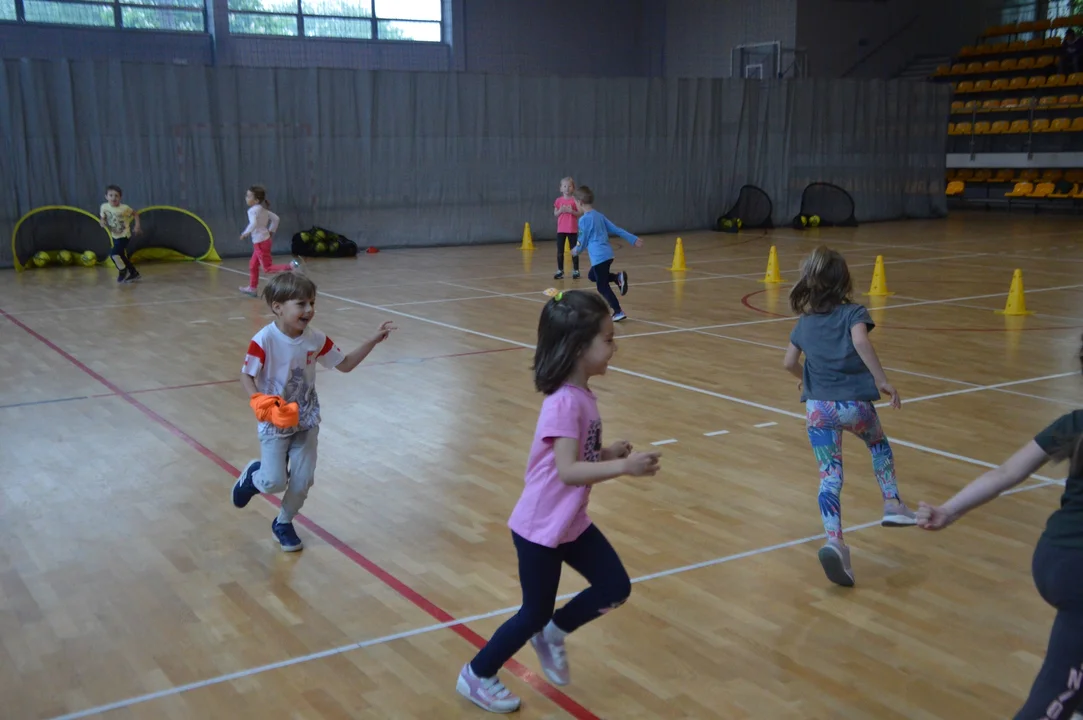
{"type": "MultiPolygon", "coordinates": [[[[1081,350],[1083,359],[1083,350],[1081,350]]],[[[1060,508],[1045,524],[1034,549],[1032,572],[1042,598],[1057,610],[1045,662],[1015,720],[1069,718],[1083,707],[1083,410],[1061,416],[941,506],[922,502],[917,525],[948,525],[1027,480],[1049,461],[1070,459],[1060,508]]],[[[1078,717],[1078,716],[1077,716],[1078,717]]]]}

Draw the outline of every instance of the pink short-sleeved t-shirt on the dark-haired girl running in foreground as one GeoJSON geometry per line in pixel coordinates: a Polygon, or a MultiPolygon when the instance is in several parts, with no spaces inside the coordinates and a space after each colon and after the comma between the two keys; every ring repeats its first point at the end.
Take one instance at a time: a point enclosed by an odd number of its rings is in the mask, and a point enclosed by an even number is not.
{"type": "Polygon", "coordinates": [[[563,385],[545,398],[534,444],[526,461],[526,486],[508,520],[517,535],[556,548],[571,542],[590,527],[587,516],[589,486],[565,485],[557,473],[552,444],[557,437],[579,441],[579,461],[597,462],[602,453],[602,419],[593,393],[563,385]]]}

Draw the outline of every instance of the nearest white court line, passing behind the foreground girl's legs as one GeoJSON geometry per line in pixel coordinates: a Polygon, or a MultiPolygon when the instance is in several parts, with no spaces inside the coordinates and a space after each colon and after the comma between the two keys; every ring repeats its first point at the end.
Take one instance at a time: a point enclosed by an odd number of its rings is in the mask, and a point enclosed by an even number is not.
{"type": "MultiPolygon", "coordinates": [[[[1002,495],[1016,495],[1018,493],[1026,493],[1028,490],[1039,489],[1042,487],[1047,487],[1049,485],[1058,484],[1060,481],[1043,481],[1035,483],[1033,485],[1021,485],[1002,495]]],[[[844,528],[843,533],[857,533],[870,527],[875,527],[880,524],[879,520],[874,520],[872,522],[862,523],[860,525],[852,525],[850,527],[844,528]]],[[[917,528],[914,528],[916,532],[917,528]]],[[[715,558],[712,560],[704,560],[702,562],[692,563],[689,565],[681,565],[680,567],[671,567],[669,570],[660,571],[657,573],[651,573],[649,575],[642,575],[631,579],[634,585],[640,582],[647,582],[649,580],[656,580],[664,577],[671,577],[674,575],[680,575],[682,573],[689,573],[696,570],[703,570],[706,567],[714,567],[716,565],[722,565],[726,563],[734,562],[736,560],[744,560],[746,558],[755,558],[757,555],[762,555],[768,552],[774,552],[775,550],[784,550],[786,548],[794,548],[807,542],[814,542],[815,540],[822,540],[826,537],[825,534],[820,533],[819,535],[809,535],[806,537],[797,538],[795,540],[786,540],[785,542],[778,542],[775,545],[769,545],[761,548],[754,548],[752,550],[745,550],[744,552],[736,552],[730,555],[723,555],[721,558],[715,558]]],[[[559,595],[558,601],[570,600],[574,598],[577,592],[567,592],[565,594],[559,595]]],[[[80,720],[81,718],[89,718],[94,715],[101,715],[103,712],[109,712],[112,710],[121,710],[123,708],[132,707],[133,705],[140,705],[142,703],[148,703],[151,701],[161,699],[165,697],[170,697],[172,695],[180,695],[182,693],[191,692],[193,690],[199,690],[201,688],[210,688],[212,685],[218,685],[223,682],[232,682],[234,680],[242,680],[244,678],[250,678],[262,672],[269,672],[271,670],[279,670],[282,668],[291,667],[293,665],[301,665],[302,663],[310,663],[312,660],[323,659],[325,657],[331,657],[335,655],[341,655],[342,653],[348,653],[354,650],[363,650],[365,647],[371,647],[374,645],[381,645],[389,642],[394,642],[396,640],[404,640],[406,638],[414,638],[420,634],[427,634],[429,632],[436,632],[439,630],[445,630],[447,628],[458,627],[460,625],[468,625],[470,623],[475,623],[479,620],[486,620],[494,617],[499,617],[501,615],[510,615],[519,610],[519,605],[512,605],[509,607],[501,607],[499,610],[494,610],[488,613],[482,613],[480,615],[471,615],[469,617],[457,618],[454,620],[448,620],[446,623],[436,623],[434,625],[426,625],[420,628],[415,628],[413,630],[404,630],[403,632],[395,632],[393,634],[381,636],[379,638],[373,638],[370,640],[363,640],[361,642],[350,643],[348,645],[340,645],[338,647],[332,647],[330,650],[324,650],[316,653],[310,653],[309,655],[301,655],[298,657],[290,657],[285,660],[278,660],[277,663],[270,663],[268,665],[260,665],[253,668],[247,668],[244,670],[237,670],[236,672],[230,672],[226,675],[221,675],[216,678],[208,678],[207,680],[199,680],[197,682],[191,682],[185,685],[178,685],[175,688],[169,688],[167,690],[159,690],[153,693],[146,693],[144,695],[136,695],[134,697],[128,697],[122,701],[117,701],[115,703],[109,703],[108,705],[100,705],[97,707],[88,708],[86,710],[79,710],[77,712],[70,712],[68,715],[57,716],[52,718],[52,720],[80,720]]]]}

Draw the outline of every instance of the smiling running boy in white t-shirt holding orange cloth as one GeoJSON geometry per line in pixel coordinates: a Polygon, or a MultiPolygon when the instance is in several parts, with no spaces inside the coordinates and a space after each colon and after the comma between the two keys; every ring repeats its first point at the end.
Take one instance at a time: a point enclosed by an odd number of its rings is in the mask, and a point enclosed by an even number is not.
{"type": "Polygon", "coordinates": [[[316,286],[304,275],[275,275],[263,289],[275,315],[248,343],[240,384],[259,420],[260,459],[250,461],[233,486],[233,505],[244,508],[260,493],[283,493],[282,510],[271,523],[286,552],[303,545],[293,518],[304,505],[316,471],[319,398],[316,363],[350,372],[395,327],[390,320],[368,342],[343,354],[326,335],[310,326],[316,312],[316,286]]]}

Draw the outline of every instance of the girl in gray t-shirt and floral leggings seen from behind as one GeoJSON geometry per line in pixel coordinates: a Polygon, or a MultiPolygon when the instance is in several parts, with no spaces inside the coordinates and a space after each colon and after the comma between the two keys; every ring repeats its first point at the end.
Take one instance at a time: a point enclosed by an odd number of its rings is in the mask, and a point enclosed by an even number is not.
{"type": "Polygon", "coordinates": [[[853,586],[853,571],[850,549],[843,541],[839,501],[844,430],[864,441],[873,456],[873,472],[884,496],[880,524],[901,527],[915,522],[914,512],[899,498],[895,456],[873,405],[883,391],[898,408],[899,393],[887,381],[869,341],[875,324],[867,310],[850,302],[852,292],[843,256],[823,246],[813,250],[790,293],[790,305],[798,318],[784,361],[786,369],[801,381],[809,442],[820,463],[820,515],[827,533],[820,564],[827,579],[846,587],[853,586]]]}

